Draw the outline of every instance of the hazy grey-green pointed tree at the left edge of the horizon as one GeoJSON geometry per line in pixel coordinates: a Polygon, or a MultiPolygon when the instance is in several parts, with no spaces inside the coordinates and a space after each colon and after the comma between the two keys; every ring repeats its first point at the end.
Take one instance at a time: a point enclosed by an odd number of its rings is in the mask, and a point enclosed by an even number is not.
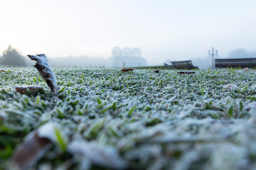
{"type": "Polygon", "coordinates": [[[4,50],[3,55],[0,57],[0,64],[9,67],[26,67],[26,60],[18,50],[9,45],[7,50],[4,50]]]}

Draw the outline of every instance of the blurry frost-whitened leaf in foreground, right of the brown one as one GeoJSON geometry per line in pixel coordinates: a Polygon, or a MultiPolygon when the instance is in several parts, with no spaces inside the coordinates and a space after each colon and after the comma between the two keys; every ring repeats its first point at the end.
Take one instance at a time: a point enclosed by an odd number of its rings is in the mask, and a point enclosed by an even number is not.
{"type": "Polygon", "coordinates": [[[108,167],[110,169],[125,169],[127,165],[119,157],[117,149],[106,147],[96,142],[86,142],[78,140],[71,142],[68,151],[73,154],[80,154],[82,157],[90,160],[92,164],[108,167]]]}

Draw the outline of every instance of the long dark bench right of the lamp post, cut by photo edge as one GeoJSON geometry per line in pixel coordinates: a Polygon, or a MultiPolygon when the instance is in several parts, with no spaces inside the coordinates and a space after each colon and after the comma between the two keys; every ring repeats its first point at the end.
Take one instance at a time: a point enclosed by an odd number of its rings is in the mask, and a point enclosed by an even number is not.
{"type": "Polygon", "coordinates": [[[228,58],[228,59],[215,59],[215,68],[228,68],[228,67],[241,67],[253,68],[256,67],[256,58],[228,58]]]}

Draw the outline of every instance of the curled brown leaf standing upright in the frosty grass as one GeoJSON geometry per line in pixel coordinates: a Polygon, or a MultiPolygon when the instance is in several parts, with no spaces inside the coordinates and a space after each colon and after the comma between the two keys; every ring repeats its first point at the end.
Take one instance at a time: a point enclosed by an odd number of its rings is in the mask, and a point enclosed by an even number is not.
{"type": "Polygon", "coordinates": [[[50,64],[47,60],[46,55],[28,55],[31,60],[36,61],[36,69],[41,74],[43,79],[46,81],[47,85],[50,87],[50,90],[56,95],[58,94],[58,87],[55,81],[55,76],[53,70],[50,68],[50,64]]]}

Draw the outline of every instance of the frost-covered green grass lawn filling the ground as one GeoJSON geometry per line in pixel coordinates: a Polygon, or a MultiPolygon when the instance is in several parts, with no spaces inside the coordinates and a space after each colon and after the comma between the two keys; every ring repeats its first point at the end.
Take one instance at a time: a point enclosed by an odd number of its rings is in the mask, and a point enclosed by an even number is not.
{"type": "Polygon", "coordinates": [[[33,169],[256,169],[254,70],[53,72],[58,96],[35,68],[0,72],[0,169],[20,144],[33,169]]]}

